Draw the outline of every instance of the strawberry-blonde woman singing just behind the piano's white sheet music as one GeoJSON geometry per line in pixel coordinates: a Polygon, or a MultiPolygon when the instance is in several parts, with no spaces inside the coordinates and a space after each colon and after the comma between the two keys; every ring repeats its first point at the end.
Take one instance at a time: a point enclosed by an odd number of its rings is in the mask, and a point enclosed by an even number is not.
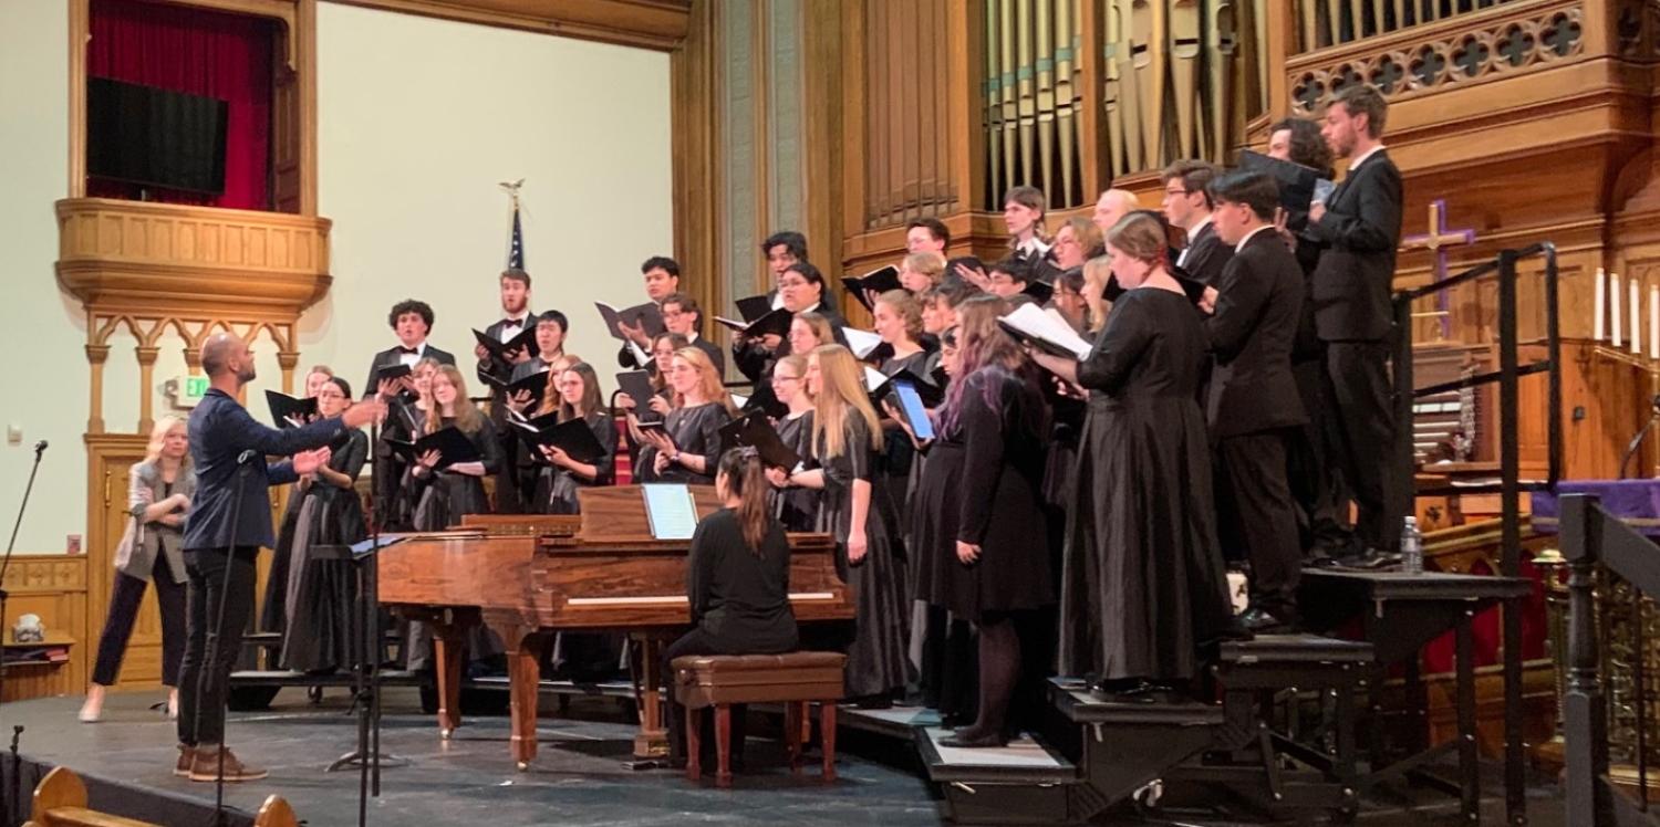
{"type": "Polygon", "coordinates": [[[672,409],[662,429],[641,429],[646,447],[639,451],[644,482],[689,482],[709,486],[720,461],[720,426],[737,416],[732,394],[720,383],[715,363],[701,348],[681,348],[669,360],[672,409]]]}

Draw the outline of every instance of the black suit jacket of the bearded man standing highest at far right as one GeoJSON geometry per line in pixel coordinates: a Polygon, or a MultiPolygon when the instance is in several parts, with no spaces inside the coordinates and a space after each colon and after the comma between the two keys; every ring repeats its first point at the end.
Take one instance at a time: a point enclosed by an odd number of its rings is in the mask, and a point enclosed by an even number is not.
{"type": "Polygon", "coordinates": [[[1348,171],[1305,237],[1321,247],[1311,280],[1321,341],[1381,341],[1401,244],[1401,171],[1379,149],[1348,171]]]}

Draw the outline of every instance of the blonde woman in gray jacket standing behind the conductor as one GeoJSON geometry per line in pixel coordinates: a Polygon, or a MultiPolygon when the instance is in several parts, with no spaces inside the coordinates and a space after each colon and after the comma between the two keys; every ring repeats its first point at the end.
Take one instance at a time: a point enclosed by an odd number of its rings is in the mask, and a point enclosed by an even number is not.
{"type": "Polygon", "coordinates": [[[121,656],[144,600],[144,587],[156,583],[161,605],[161,683],[169,688],[168,716],[179,708],[179,660],[184,656],[184,514],[196,494],[191,471],[189,434],[184,419],[163,416],[149,433],[144,461],[128,471],[126,504],[133,519],[115,550],[115,590],[110,617],[98,640],[98,663],[86,688],[81,721],[103,718],[105,688],[121,673],[121,656]]]}

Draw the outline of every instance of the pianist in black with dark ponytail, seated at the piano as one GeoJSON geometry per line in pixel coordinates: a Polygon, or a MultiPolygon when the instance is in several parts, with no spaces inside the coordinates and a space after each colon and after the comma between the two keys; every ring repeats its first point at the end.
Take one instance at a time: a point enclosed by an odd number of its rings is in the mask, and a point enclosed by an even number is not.
{"type": "MultiPolygon", "coordinates": [[[[720,457],[720,510],[692,532],[686,597],[692,630],[662,653],[669,676],[669,759],[686,766],[686,708],[674,701],[674,658],[684,655],[780,655],[797,646],[790,610],[790,544],[769,502],[770,487],[754,447],[720,457]]],[[[744,756],[745,706],[732,706],[732,761],[744,756]]],[[[714,744],[704,739],[704,744],[714,744]]]]}

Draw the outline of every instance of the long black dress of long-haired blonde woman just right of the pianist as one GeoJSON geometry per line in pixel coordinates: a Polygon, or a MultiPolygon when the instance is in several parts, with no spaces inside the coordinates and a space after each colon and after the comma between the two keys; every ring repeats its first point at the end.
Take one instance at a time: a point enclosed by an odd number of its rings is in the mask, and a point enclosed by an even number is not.
{"type": "Polygon", "coordinates": [[[818,509],[817,530],[835,537],[837,573],[853,590],[855,636],[847,651],[847,694],[850,698],[886,696],[905,688],[905,620],[910,607],[903,607],[905,572],[888,542],[888,527],[876,507],[881,496],[875,482],[875,451],[870,447],[870,426],[857,411],[848,411],[843,426],[843,447],[838,456],[825,456],[823,439],[815,444],[815,456],[823,467],[823,507],[818,509]],[[865,509],[865,557],[857,563],[847,559],[847,539],[853,525],[853,482],[872,484],[870,507],[865,509]]]}

